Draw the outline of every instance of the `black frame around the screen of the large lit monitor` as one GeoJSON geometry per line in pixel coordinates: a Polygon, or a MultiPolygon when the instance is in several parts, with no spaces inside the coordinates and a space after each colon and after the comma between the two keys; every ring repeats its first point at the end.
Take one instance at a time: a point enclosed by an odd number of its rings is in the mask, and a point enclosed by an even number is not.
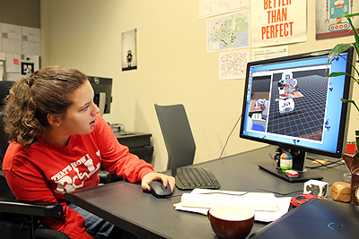
{"type": "MultiPolygon", "coordinates": [[[[246,107],[248,107],[247,106],[247,100],[246,100],[247,99],[247,93],[246,92],[247,92],[248,87],[249,87],[249,80],[250,80],[249,75],[250,75],[250,67],[251,66],[259,65],[259,64],[275,64],[275,63],[284,62],[284,61],[293,61],[293,60],[296,60],[296,59],[304,59],[304,58],[308,59],[308,58],[313,58],[313,57],[322,57],[322,56],[328,55],[329,52],[330,52],[330,50],[320,50],[320,51],[314,51],[314,52],[310,52],[310,53],[302,53],[302,54],[297,54],[297,55],[288,55],[288,56],[283,56],[283,57],[271,58],[271,59],[267,59],[267,60],[249,62],[247,64],[246,79],[245,79],[244,91],[243,91],[240,138],[247,139],[247,140],[250,140],[250,141],[259,141],[259,142],[267,143],[267,144],[270,144],[270,145],[276,145],[276,146],[278,146],[279,148],[282,148],[282,149],[295,149],[295,150],[300,150],[300,151],[320,154],[320,155],[328,156],[328,157],[332,157],[332,158],[341,158],[341,154],[342,154],[343,150],[345,149],[345,145],[346,145],[346,134],[347,134],[349,115],[350,115],[350,107],[348,107],[347,103],[343,103],[343,107],[342,107],[342,113],[341,113],[340,124],[339,124],[338,139],[337,139],[337,141],[338,141],[338,143],[337,143],[337,151],[336,152],[323,150],[323,149],[313,149],[313,148],[309,148],[309,147],[304,147],[304,146],[300,146],[300,145],[284,143],[284,142],[280,142],[280,141],[272,141],[272,140],[262,139],[262,138],[253,137],[253,136],[250,136],[250,135],[247,135],[247,134],[243,133],[244,123],[245,123],[246,107]]],[[[352,72],[353,72],[352,64],[355,62],[355,59],[354,59],[354,47],[349,47],[343,53],[347,54],[346,73],[352,74],[352,72]]],[[[346,75],[345,76],[345,88],[344,88],[343,98],[351,98],[352,85],[353,85],[353,80],[349,76],[346,75]]]]}

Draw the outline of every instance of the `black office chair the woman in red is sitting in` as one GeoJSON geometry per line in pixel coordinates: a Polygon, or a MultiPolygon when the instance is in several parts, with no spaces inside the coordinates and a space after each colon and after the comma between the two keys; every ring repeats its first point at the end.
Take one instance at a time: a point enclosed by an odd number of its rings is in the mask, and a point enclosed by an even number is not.
{"type": "Polygon", "coordinates": [[[8,138],[4,132],[3,101],[14,81],[0,81],[0,237],[2,239],[37,238],[69,239],[63,232],[38,227],[38,217],[62,217],[62,205],[58,202],[17,201],[3,174],[4,153],[8,138]]]}

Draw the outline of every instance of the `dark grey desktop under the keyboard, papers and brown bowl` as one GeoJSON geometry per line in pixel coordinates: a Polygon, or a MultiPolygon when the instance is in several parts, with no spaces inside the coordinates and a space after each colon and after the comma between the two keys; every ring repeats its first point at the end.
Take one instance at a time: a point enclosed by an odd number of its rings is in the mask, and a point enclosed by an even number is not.
{"type": "MultiPolygon", "coordinates": [[[[268,161],[272,164],[268,153],[274,155],[275,150],[276,147],[269,146],[196,166],[210,169],[222,190],[266,189],[282,193],[302,190],[303,183],[290,184],[258,168],[259,163],[268,161]]],[[[342,181],[343,173],[348,172],[345,165],[315,170],[329,184],[342,181]]],[[[156,199],[151,193],[144,192],[139,184],[121,181],[66,193],[65,196],[68,201],[143,238],[216,238],[206,216],[173,208],[182,193],[176,188],[171,198],[156,199]]],[[[251,234],[266,225],[256,222],[251,234]]]]}

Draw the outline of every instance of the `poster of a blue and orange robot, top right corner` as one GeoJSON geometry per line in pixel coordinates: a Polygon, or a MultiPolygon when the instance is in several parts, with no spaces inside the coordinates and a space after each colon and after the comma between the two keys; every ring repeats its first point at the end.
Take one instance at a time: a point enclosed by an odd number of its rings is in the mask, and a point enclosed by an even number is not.
{"type": "MultiPolygon", "coordinates": [[[[358,13],[359,2],[353,0],[317,0],[316,2],[316,39],[337,38],[353,35],[344,13],[358,13]]],[[[359,17],[352,18],[355,26],[359,17]]],[[[359,32],[359,30],[358,30],[359,32]]]]}

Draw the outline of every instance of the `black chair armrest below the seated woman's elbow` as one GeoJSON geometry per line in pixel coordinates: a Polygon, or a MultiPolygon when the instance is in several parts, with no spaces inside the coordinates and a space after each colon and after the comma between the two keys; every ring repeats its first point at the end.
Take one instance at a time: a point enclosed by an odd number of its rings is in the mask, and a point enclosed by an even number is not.
{"type": "Polygon", "coordinates": [[[11,201],[0,200],[0,212],[33,215],[38,217],[57,217],[64,215],[59,202],[49,201],[11,201]]]}

